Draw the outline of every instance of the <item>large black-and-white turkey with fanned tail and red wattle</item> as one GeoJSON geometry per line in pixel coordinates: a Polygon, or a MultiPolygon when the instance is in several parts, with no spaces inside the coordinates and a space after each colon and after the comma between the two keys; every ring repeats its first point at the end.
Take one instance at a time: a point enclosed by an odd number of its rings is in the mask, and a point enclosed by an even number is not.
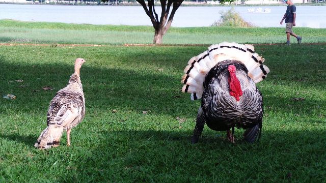
{"type": "Polygon", "coordinates": [[[197,143],[205,123],[216,131],[227,131],[234,143],[234,127],[246,129],[244,140],[261,136],[263,98],[255,83],[269,69],[252,45],[223,42],[191,58],[184,69],[182,92],[201,99],[192,143],[197,143]],[[231,132],[232,129],[232,132],[231,132]]]}

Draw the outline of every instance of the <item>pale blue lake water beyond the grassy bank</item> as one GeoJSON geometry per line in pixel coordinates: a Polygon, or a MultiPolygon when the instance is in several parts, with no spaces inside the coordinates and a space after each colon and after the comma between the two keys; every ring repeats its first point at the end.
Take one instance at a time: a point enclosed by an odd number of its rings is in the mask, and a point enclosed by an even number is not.
{"type": "MultiPolygon", "coordinates": [[[[219,20],[221,11],[231,7],[180,7],[172,26],[210,26],[219,20]]],[[[259,27],[284,27],[280,21],[286,6],[234,6],[243,19],[259,27]],[[249,10],[254,13],[249,12],[249,10]],[[259,9],[262,13],[259,13],[259,9]],[[264,13],[264,10],[270,13],[264,13]]],[[[160,7],[156,8],[160,15],[160,7]]],[[[152,25],[141,6],[69,6],[69,5],[14,5],[0,4],[0,19],[22,21],[45,21],[63,23],[112,24],[112,25],[152,25]]],[[[326,28],[326,6],[297,6],[296,26],[326,28]]]]}

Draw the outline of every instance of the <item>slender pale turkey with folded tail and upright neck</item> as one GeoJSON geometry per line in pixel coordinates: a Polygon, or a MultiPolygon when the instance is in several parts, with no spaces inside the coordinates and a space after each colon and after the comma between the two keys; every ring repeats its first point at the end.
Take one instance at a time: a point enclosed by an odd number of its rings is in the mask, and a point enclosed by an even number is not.
{"type": "Polygon", "coordinates": [[[70,145],[70,132],[85,116],[85,98],[82,82],[79,77],[80,67],[85,59],[75,60],[75,72],[71,75],[68,85],[60,89],[51,100],[47,112],[47,127],[35,143],[35,147],[47,149],[60,145],[64,130],[67,131],[67,145],[70,145]]]}

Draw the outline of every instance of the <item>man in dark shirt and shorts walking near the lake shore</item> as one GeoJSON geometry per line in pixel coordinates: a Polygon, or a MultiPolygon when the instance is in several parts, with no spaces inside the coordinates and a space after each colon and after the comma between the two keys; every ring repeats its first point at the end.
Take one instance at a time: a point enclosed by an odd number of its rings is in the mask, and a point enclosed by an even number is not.
{"type": "Polygon", "coordinates": [[[285,23],[286,23],[286,37],[287,37],[287,42],[286,44],[289,45],[290,44],[290,36],[294,36],[297,40],[297,43],[301,43],[302,37],[297,36],[296,34],[293,33],[292,31],[292,27],[295,26],[295,5],[291,2],[291,0],[284,0],[286,2],[286,4],[288,5],[286,7],[286,12],[281,20],[281,24],[283,24],[283,20],[285,19],[285,23]]]}

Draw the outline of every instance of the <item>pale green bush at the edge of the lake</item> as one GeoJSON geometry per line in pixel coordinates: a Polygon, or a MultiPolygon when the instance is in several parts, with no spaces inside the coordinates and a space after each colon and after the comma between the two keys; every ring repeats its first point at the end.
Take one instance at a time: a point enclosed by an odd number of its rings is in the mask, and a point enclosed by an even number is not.
{"type": "Polygon", "coordinates": [[[221,11],[220,14],[221,19],[215,21],[211,26],[254,27],[252,23],[243,20],[234,8],[227,12],[221,11]]]}

